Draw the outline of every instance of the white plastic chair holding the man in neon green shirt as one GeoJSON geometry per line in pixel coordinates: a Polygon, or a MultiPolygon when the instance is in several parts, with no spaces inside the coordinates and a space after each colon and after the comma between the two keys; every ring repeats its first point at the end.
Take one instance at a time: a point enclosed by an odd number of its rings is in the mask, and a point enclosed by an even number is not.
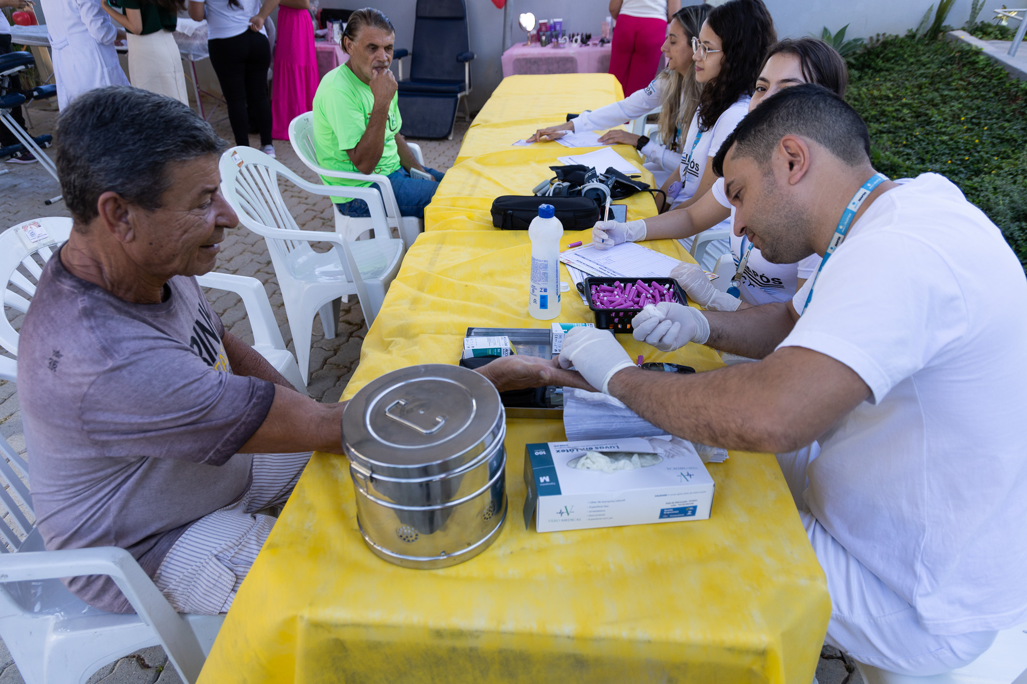
{"type": "MultiPolygon", "coordinates": [[[[392,184],[381,173],[352,173],[350,171],[335,171],[325,168],[317,163],[317,153],[314,151],[314,118],[313,112],[307,112],[293,119],[289,124],[289,142],[299,156],[300,161],[306,164],[307,168],[317,173],[332,178],[351,178],[355,180],[366,180],[373,183],[381,190],[382,202],[385,205],[388,227],[400,232],[400,236],[409,248],[414,244],[414,240],[421,234],[424,227],[417,216],[403,216],[400,214],[400,205],[395,201],[395,194],[392,192],[392,184]]],[[[407,143],[417,163],[424,165],[424,157],[421,155],[421,147],[416,143],[407,143]]],[[[347,197],[346,189],[333,186],[335,197],[347,197]]],[[[347,240],[355,240],[357,237],[372,229],[370,218],[353,218],[339,213],[339,209],[332,207],[335,214],[335,232],[346,236],[347,240]]],[[[376,234],[377,236],[377,234],[376,234]]]]}

